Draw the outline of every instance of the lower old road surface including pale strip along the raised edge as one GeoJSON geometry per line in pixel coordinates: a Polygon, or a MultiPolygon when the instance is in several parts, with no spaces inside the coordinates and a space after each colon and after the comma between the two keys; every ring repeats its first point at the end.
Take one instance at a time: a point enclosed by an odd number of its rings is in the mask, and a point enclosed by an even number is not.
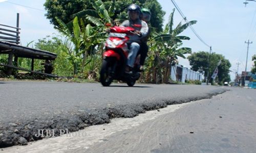
{"type": "Polygon", "coordinates": [[[3,152],[255,152],[256,90],[229,89],[3,152]]]}

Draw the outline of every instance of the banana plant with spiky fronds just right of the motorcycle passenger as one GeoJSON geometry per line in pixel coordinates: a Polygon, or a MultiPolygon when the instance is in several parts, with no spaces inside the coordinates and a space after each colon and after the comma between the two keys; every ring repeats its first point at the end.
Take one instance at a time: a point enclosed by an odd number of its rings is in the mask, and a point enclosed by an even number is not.
{"type": "Polygon", "coordinates": [[[163,82],[168,83],[170,77],[170,66],[178,63],[178,57],[185,58],[184,54],[190,54],[191,48],[181,47],[183,40],[189,40],[187,36],[179,36],[189,25],[195,24],[197,21],[189,21],[185,24],[180,22],[175,29],[173,29],[174,12],[169,16],[169,21],[165,26],[164,32],[153,38],[159,44],[159,56],[163,61],[163,82]]]}

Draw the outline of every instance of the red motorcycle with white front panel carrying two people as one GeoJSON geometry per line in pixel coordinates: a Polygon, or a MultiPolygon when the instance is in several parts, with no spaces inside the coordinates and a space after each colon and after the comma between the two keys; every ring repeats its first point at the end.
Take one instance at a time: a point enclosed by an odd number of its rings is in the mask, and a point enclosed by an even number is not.
{"type": "Polygon", "coordinates": [[[110,28],[100,70],[100,82],[103,86],[109,86],[113,80],[118,80],[126,82],[131,87],[140,78],[139,56],[132,71],[130,73],[124,71],[129,53],[127,41],[131,35],[136,35],[135,29],[131,27],[110,28]]]}

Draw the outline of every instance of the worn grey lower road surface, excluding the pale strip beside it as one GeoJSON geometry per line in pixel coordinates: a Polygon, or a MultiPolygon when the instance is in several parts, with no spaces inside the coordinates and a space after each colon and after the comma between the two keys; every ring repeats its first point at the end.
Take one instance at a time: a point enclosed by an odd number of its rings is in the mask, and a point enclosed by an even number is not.
{"type": "MultiPolygon", "coordinates": [[[[117,132],[88,152],[255,152],[256,90],[232,89],[212,99],[117,132]]],[[[82,152],[84,148],[74,149],[82,152]]]]}

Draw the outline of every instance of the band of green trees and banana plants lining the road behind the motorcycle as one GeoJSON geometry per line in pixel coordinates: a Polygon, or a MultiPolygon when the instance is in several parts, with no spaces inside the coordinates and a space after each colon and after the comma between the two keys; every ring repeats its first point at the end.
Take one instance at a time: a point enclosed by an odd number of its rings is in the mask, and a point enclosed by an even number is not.
{"type": "MultiPolygon", "coordinates": [[[[140,82],[142,83],[170,83],[170,66],[178,64],[178,57],[185,58],[186,54],[191,54],[189,47],[183,46],[183,41],[189,41],[188,36],[183,36],[182,32],[189,25],[197,21],[189,21],[174,25],[174,13],[169,15],[168,23],[163,26],[163,16],[160,4],[157,0],[143,1],[50,1],[44,4],[47,10],[46,17],[59,31],[59,34],[53,34],[46,38],[39,39],[37,42],[28,44],[41,50],[47,50],[57,54],[54,61],[53,73],[66,78],[77,78],[77,80],[98,81],[99,70],[104,51],[104,41],[107,37],[106,23],[118,25],[127,19],[127,6],[136,3],[152,11],[151,22],[148,24],[152,30],[148,46],[150,47],[145,61],[145,71],[142,73],[140,82]],[[163,29],[164,27],[164,29],[163,29]]],[[[201,53],[200,53],[201,54],[201,53]]],[[[207,57],[207,54],[202,53],[207,57]]],[[[193,64],[191,55],[190,64],[193,70],[198,70],[204,65],[193,64]]],[[[199,56],[199,55],[197,55],[199,56]]],[[[203,57],[205,60],[207,58],[203,57]]],[[[213,59],[213,58],[212,58],[213,59]]],[[[216,55],[216,59],[224,59],[221,55],[216,55]]],[[[7,60],[7,57],[1,56],[0,60],[7,60]]],[[[213,71],[217,60],[212,60],[209,71],[213,71]]],[[[35,60],[34,69],[42,70],[40,60],[35,60]]],[[[206,61],[205,61],[206,62],[206,61]]],[[[19,59],[20,67],[28,68],[31,65],[29,59],[19,59]]],[[[223,61],[223,70],[218,75],[219,82],[228,80],[229,75],[226,71],[230,67],[228,60],[223,61]],[[225,67],[226,66],[226,67],[225,67]]],[[[206,67],[203,67],[207,71],[206,67]]],[[[76,79],[73,79],[76,80],[76,79]]],[[[187,83],[200,84],[199,82],[187,81],[187,83]]]]}

